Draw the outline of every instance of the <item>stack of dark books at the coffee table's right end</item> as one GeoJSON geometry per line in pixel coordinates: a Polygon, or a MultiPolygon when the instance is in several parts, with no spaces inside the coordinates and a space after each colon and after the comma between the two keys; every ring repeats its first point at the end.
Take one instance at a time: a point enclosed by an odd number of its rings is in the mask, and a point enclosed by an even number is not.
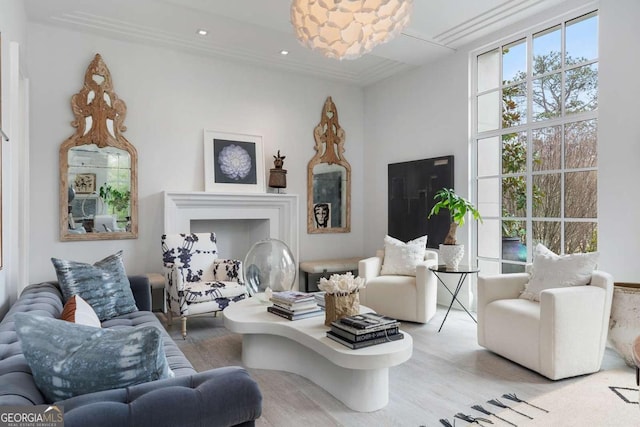
{"type": "Polygon", "coordinates": [[[327,337],[349,348],[363,348],[404,338],[400,322],[377,313],[362,313],[331,323],[327,337]]]}

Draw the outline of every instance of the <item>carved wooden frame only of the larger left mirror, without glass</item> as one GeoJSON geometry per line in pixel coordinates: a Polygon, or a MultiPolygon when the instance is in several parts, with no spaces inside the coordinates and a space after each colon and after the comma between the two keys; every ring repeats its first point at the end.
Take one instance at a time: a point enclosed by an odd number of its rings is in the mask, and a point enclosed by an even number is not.
{"type": "Polygon", "coordinates": [[[127,113],[125,102],[118,98],[113,91],[111,73],[96,54],[84,76],[84,85],[80,92],[71,97],[71,110],[75,119],[71,126],[76,128],[73,135],[60,146],[60,240],[120,240],[138,237],[138,153],[133,145],[122,135],[127,128],[124,119],[127,113]],[[94,80],[100,76],[102,81],[94,80]],[[94,96],[88,100],[89,94],[94,96]],[[105,95],[110,100],[105,101],[105,95]],[[90,129],[87,129],[87,119],[91,119],[90,129]],[[112,126],[109,124],[112,123],[112,126]],[[111,129],[110,129],[111,128],[111,129]],[[115,147],[126,151],[131,156],[131,187],[129,207],[131,227],[129,231],[83,233],[69,232],[69,150],[73,147],[95,144],[98,148],[115,147]]]}

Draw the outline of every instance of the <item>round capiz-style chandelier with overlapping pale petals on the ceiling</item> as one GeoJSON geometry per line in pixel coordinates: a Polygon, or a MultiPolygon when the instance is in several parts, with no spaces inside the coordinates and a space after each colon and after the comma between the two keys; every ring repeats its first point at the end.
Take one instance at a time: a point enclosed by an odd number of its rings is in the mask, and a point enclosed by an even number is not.
{"type": "Polygon", "coordinates": [[[293,0],[291,23],[303,45],[328,58],[355,59],[409,23],[413,0],[293,0]]]}

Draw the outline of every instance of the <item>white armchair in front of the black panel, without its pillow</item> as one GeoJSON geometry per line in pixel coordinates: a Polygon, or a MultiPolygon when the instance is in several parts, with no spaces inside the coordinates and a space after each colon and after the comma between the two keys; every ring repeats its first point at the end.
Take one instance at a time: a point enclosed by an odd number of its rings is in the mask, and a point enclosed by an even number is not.
{"type": "Polygon", "coordinates": [[[384,250],[358,263],[365,279],[360,303],[377,313],[409,322],[427,323],[436,314],[438,283],[429,266],[438,265],[438,253],[427,250],[414,276],[380,275],[384,250]]]}

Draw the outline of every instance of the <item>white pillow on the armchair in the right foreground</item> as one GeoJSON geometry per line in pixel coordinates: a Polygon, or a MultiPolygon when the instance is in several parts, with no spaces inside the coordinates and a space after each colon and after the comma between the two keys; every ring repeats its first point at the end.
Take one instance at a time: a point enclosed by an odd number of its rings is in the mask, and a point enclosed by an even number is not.
{"type": "Polygon", "coordinates": [[[598,265],[598,252],[556,255],[538,243],[533,252],[531,278],[520,298],[540,301],[546,289],[587,285],[598,265]]]}

